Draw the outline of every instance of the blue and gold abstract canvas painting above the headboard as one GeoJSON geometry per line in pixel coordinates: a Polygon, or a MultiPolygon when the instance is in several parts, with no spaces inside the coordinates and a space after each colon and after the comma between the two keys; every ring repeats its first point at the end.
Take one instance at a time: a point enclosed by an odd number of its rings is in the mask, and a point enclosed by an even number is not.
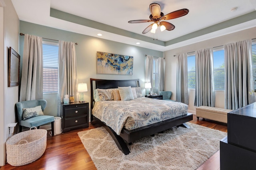
{"type": "Polygon", "coordinates": [[[133,57],[97,51],[97,74],[133,74],[133,57]]]}

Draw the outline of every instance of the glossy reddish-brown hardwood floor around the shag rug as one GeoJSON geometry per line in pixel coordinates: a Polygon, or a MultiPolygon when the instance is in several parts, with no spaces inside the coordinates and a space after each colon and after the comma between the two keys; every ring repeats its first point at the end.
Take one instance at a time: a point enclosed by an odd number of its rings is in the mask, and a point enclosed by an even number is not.
{"type": "MultiPolygon", "coordinates": [[[[227,125],[215,121],[197,120],[193,115],[191,123],[206,126],[212,129],[227,132],[227,125]]],[[[79,131],[96,128],[92,124],[86,129],[77,129],[67,133],[62,133],[54,137],[47,137],[46,151],[41,158],[24,166],[11,166],[6,164],[1,170],[96,170],[88,152],[80,141],[77,133],[79,131]]],[[[219,170],[220,151],[209,158],[198,170],[219,170]]]]}

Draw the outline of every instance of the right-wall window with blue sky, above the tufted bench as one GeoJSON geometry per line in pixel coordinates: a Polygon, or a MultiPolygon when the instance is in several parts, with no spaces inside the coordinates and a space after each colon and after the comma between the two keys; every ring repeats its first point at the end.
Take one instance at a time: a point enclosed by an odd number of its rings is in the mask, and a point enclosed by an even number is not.
{"type": "Polygon", "coordinates": [[[225,90],[225,68],[223,46],[213,49],[214,90],[225,90]]]}

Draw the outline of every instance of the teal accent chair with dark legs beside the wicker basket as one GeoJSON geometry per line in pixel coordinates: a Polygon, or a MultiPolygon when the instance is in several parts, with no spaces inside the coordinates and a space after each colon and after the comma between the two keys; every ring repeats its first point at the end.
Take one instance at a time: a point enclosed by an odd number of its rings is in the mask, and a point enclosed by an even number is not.
{"type": "Polygon", "coordinates": [[[54,116],[40,115],[40,116],[31,117],[29,119],[23,120],[23,110],[22,110],[23,108],[41,106],[42,111],[44,111],[46,104],[47,104],[46,100],[28,100],[23,102],[17,102],[15,104],[15,113],[20,125],[20,129],[19,129],[20,132],[22,132],[22,126],[29,127],[29,128],[32,126],[35,126],[37,127],[37,129],[39,129],[41,125],[51,122],[52,136],[54,136],[54,116]]]}

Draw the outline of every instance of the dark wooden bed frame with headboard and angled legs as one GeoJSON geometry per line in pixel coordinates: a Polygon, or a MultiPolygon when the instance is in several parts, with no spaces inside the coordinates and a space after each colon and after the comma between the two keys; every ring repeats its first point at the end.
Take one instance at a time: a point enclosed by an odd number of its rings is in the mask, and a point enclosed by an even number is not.
{"type": "Polygon", "coordinates": [[[152,125],[147,125],[144,127],[133,129],[133,130],[128,130],[123,128],[120,135],[117,135],[116,132],[111,127],[106,125],[106,123],[100,121],[100,119],[92,115],[92,108],[94,106],[93,90],[96,88],[100,88],[100,89],[118,88],[118,86],[119,87],[125,87],[125,86],[140,87],[140,80],[139,79],[101,80],[101,79],[90,78],[90,85],[91,85],[91,110],[90,110],[91,123],[102,124],[114,139],[116,145],[118,146],[118,149],[120,149],[126,155],[130,153],[130,150],[128,149],[126,142],[131,144],[132,142],[138,139],[141,139],[143,137],[154,135],[155,133],[159,133],[161,131],[164,131],[166,129],[170,129],[172,127],[179,126],[179,125],[189,128],[189,126],[186,125],[186,122],[193,120],[193,115],[191,113],[187,113],[186,115],[181,115],[178,117],[174,117],[172,119],[168,119],[165,121],[161,121],[158,123],[154,123],[152,125]]]}

